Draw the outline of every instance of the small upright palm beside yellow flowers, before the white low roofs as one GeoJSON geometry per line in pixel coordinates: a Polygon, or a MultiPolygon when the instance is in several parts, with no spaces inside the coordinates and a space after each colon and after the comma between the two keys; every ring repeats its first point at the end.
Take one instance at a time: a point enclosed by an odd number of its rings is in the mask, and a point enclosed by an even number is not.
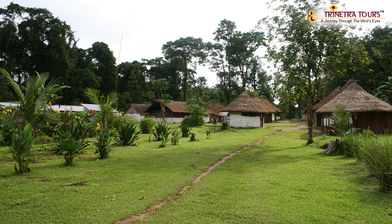
{"type": "Polygon", "coordinates": [[[106,128],[111,128],[119,119],[114,114],[113,106],[117,102],[117,93],[111,92],[104,97],[103,94],[100,95],[99,90],[93,88],[86,88],[84,93],[87,98],[94,104],[98,104],[99,111],[97,111],[97,117],[95,117],[94,123],[100,123],[102,130],[106,128]]]}

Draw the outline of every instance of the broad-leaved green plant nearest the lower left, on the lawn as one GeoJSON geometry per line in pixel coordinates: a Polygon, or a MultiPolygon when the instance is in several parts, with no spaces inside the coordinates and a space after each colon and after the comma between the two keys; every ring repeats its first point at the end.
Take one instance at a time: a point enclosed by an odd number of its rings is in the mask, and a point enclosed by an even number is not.
{"type": "Polygon", "coordinates": [[[28,165],[34,160],[34,154],[31,152],[32,145],[33,136],[31,124],[25,126],[21,135],[13,134],[10,150],[12,152],[12,158],[16,161],[14,168],[17,174],[23,174],[30,171],[28,165]],[[17,164],[19,167],[17,167],[17,164]]]}

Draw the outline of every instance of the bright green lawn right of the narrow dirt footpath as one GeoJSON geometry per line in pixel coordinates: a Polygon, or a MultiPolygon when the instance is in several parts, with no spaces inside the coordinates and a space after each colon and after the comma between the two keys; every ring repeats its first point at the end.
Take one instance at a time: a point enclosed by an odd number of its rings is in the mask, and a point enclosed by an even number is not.
{"type": "Polygon", "coordinates": [[[354,159],[321,155],[306,139],[306,130],[271,135],[143,223],[392,223],[391,195],[380,193],[354,159]]]}

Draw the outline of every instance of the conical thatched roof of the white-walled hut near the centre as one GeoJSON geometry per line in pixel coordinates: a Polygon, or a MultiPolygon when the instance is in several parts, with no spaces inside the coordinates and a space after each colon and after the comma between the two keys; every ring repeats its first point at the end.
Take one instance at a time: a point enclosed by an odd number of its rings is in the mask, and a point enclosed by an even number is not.
{"type": "Polygon", "coordinates": [[[267,107],[263,107],[262,104],[249,97],[245,91],[237,99],[225,106],[223,110],[226,112],[239,111],[250,113],[269,113],[270,111],[267,107]]]}

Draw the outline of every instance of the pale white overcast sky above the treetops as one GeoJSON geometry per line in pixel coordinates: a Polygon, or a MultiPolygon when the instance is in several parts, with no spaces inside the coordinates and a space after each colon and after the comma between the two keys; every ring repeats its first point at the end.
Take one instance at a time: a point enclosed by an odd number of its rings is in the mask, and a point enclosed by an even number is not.
{"type": "MultiPolygon", "coordinates": [[[[2,0],[1,7],[11,1],[2,0]]],[[[47,8],[54,17],[71,25],[77,46],[88,49],[94,42],[106,43],[119,62],[161,57],[162,45],[180,37],[201,37],[212,41],[212,34],[223,19],[233,21],[237,30],[250,31],[257,22],[272,16],[266,0],[13,0],[25,7],[47,8]]],[[[346,11],[384,10],[381,25],[392,21],[391,0],[342,0],[346,11]]],[[[337,4],[338,7],[341,4],[337,4]]],[[[321,17],[319,15],[319,17],[321,17]]],[[[366,27],[375,27],[367,24],[366,27]]],[[[258,50],[262,56],[263,49],[258,50]]],[[[267,69],[267,68],[266,68],[267,69]]],[[[267,70],[268,71],[268,70],[267,70]]],[[[217,83],[208,67],[197,67],[208,85],[217,83]]]]}

